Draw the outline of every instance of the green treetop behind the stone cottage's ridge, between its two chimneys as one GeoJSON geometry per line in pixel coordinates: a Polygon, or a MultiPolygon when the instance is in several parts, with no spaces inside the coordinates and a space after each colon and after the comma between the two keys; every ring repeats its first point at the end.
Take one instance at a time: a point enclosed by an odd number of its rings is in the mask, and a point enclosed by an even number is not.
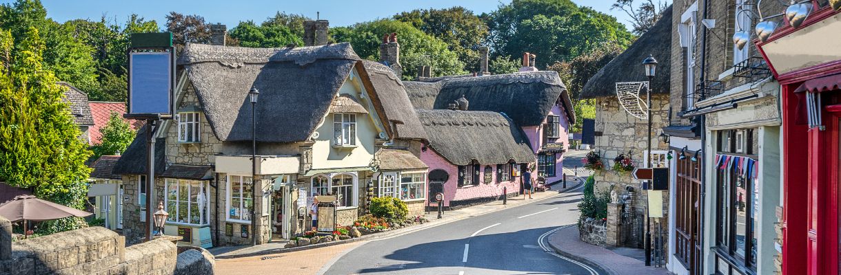
{"type": "Polygon", "coordinates": [[[288,44],[304,45],[304,39],[281,24],[257,26],[254,21],[241,21],[229,34],[231,38],[239,41],[242,47],[279,48],[288,44]]]}

